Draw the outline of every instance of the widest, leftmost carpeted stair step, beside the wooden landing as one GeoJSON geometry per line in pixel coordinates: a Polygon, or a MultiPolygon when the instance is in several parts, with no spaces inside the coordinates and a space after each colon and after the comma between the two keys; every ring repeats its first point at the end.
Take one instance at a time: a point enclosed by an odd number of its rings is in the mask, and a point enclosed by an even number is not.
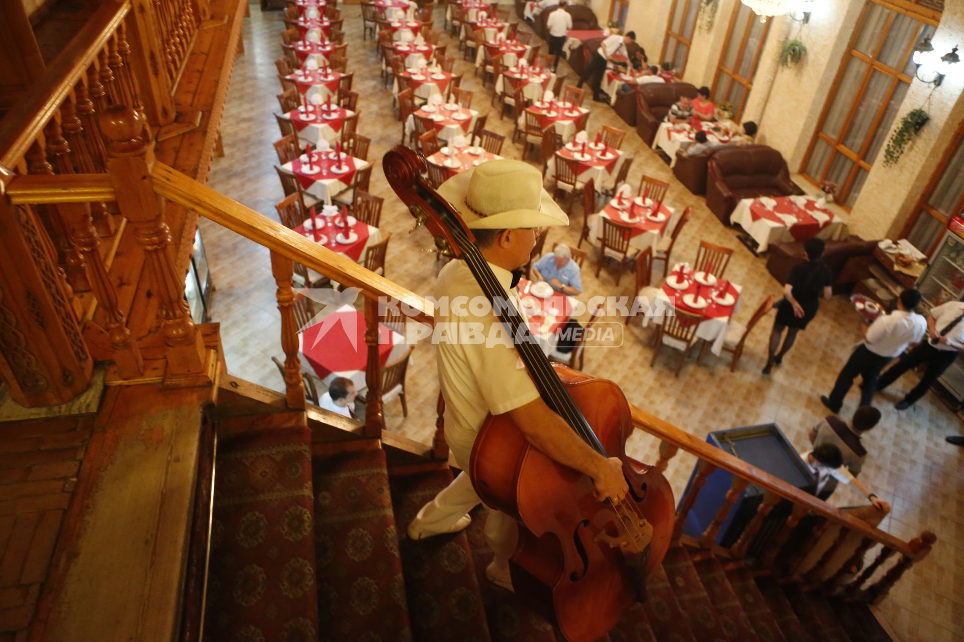
{"type": "Polygon", "coordinates": [[[204,638],[308,642],[319,634],[311,435],[257,421],[218,444],[204,638]]]}

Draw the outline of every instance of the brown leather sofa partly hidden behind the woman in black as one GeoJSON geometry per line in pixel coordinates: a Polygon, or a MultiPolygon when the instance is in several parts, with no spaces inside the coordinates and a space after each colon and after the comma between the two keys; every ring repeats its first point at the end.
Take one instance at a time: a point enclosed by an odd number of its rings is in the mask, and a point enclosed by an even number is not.
{"type": "MultiPolygon", "coordinates": [[[[834,275],[835,295],[850,292],[857,281],[867,276],[876,246],[876,241],[864,241],[852,235],[841,241],[827,242],[823,262],[834,275]]],[[[775,243],[770,245],[766,270],[781,284],[785,284],[790,278],[790,271],[806,260],[807,252],[802,243],[775,243]]]]}

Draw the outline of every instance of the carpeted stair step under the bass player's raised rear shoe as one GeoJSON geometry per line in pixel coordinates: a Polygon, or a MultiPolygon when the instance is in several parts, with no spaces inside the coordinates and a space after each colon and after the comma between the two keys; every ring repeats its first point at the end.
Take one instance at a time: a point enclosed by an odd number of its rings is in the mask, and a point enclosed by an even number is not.
{"type": "Polygon", "coordinates": [[[391,477],[412,637],[416,642],[488,642],[468,535],[460,532],[414,541],[406,534],[418,509],[450,481],[448,469],[391,477]]]}

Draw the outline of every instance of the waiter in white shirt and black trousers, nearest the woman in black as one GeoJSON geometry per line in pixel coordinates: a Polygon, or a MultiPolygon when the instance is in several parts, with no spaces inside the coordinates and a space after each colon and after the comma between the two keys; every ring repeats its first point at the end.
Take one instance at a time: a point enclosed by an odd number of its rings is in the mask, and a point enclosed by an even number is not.
{"type": "Polygon", "coordinates": [[[830,397],[820,397],[820,401],[831,412],[836,415],[841,411],[844,397],[858,374],[863,379],[860,384],[860,405],[871,405],[880,371],[908,346],[916,345],[924,338],[927,321],[914,312],[920,302],[921,293],[904,290],[897,298],[897,310],[877,317],[870,326],[861,325],[864,341],[850,354],[844,370],[837,376],[830,397]]]}

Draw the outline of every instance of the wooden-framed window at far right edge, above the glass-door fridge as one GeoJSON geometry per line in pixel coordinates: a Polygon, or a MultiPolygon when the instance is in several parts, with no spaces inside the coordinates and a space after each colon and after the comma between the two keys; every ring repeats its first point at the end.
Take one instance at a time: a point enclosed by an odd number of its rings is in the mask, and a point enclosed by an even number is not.
{"type": "Polygon", "coordinates": [[[948,221],[964,213],[964,122],[931,177],[900,236],[928,256],[937,248],[948,221]]]}

